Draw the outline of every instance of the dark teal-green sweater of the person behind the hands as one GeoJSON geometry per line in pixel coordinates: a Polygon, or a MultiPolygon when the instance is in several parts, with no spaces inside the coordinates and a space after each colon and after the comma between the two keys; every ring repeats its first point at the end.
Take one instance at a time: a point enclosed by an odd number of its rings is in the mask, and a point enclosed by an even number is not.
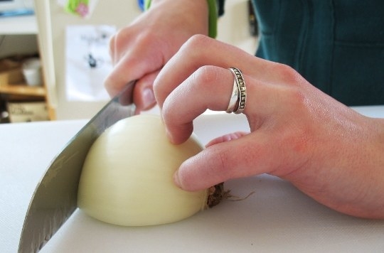
{"type": "Polygon", "coordinates": [[[256,55],[347,105],[384,104],[383,0],[252,0],[256,55]]]}

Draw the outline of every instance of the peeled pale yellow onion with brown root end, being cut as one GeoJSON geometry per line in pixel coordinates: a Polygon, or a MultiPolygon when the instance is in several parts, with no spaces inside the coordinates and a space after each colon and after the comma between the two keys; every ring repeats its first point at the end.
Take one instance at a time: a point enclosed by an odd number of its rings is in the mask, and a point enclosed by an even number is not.
{"type": "Polygon", "coordinates": [[[202,149],[194,135],[183,144],[171,144],[159,116],[122,119],[87,154],[78,206],[115,225],[159,225],[190,217],[220,202],[223,190],[217,185],[188,192],[174,184],[176,169],[202,149]]]}

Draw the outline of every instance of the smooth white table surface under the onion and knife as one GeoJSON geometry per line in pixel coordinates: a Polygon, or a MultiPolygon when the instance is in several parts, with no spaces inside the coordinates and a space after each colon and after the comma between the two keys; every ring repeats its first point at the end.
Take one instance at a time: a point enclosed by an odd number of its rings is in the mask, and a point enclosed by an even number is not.
{"type": "MultiPolygon", "coordinates": [[[[358,107],[384,117],[383,107],[358,107]]],[[[16,252],[28,203],[51,159],[85,120],[0,125],[0,252],[16,252]]],[[[245,130],[243,115],[196,120],[203,143],[245,130]]],[[[240,197],[187,220],[118,227],[76,210],[42,252],[384,252],[384,220],[334,212],[286,181],[262,175],[229,181],[240,197]]]]}

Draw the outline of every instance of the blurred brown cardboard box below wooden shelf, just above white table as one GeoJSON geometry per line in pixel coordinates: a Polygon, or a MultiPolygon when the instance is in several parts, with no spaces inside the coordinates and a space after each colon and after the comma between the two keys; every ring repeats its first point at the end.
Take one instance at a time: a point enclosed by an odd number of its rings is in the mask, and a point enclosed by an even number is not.
{"type": "Polygon", "coordinates": [[[11,123],[49,120],[46,102],[8,102],[7,108],[11,123]]]}

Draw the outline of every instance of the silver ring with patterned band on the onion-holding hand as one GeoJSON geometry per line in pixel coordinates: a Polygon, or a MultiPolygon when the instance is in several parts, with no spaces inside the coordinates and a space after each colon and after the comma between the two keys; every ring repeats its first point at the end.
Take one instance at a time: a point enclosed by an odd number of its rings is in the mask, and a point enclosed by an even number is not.
{"type": "Polygon", "coordinates": [[[247,88],[245,87],[242,72],[238,68],[229,68],[229,70],[233,73],[235,80],[233,81],[233,92],[226,112],[240,114],[244,111],[247,102],[247,88]]]}

